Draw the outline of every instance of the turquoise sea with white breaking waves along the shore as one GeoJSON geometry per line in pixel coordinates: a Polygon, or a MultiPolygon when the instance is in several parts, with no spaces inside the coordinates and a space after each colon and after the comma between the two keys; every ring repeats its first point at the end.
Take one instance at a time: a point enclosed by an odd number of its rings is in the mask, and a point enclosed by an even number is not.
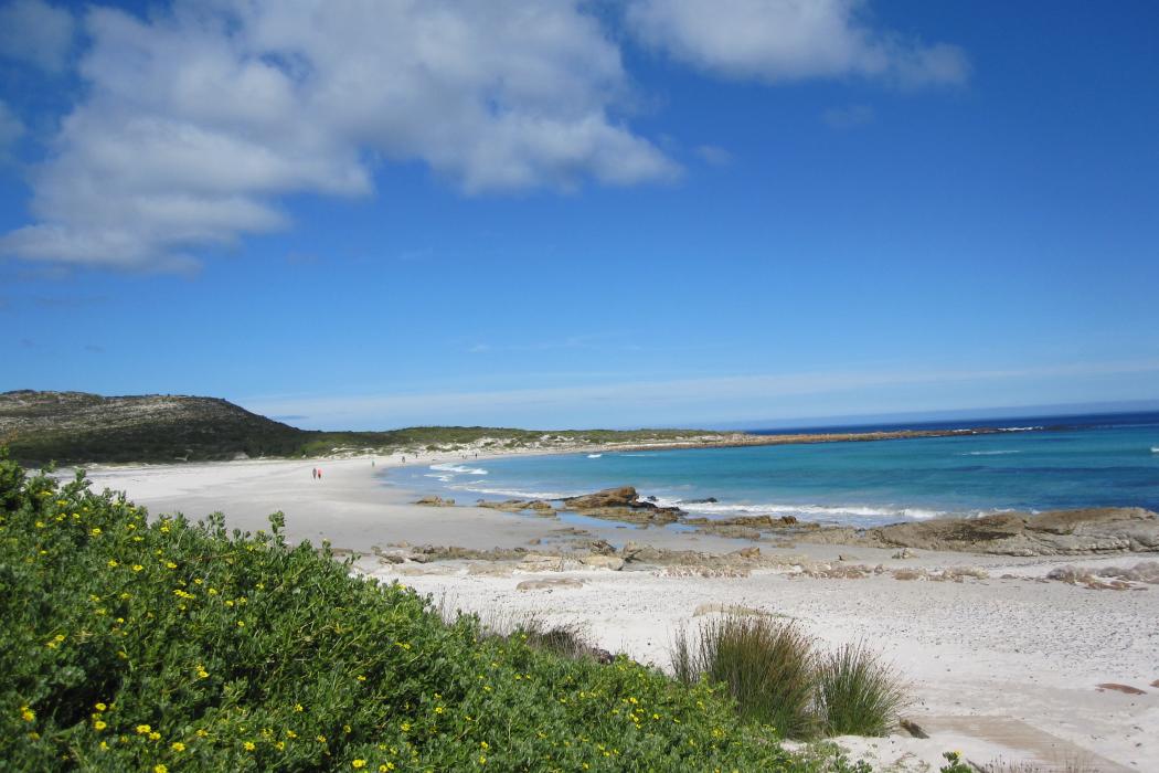
{"type": "Polygon", "coordinates": [[[697,515],[794,515],[866,526],[1001,510],[1131,505],[1159,511],[1159,414],[1006,421],[1007,426],[1051,429],[464,460],[394,471],[391,480],[460,501],[556,499],[635,486],[641,496],[697,515]],[[690,502],[708,497],[717,502],[690,502]]]}

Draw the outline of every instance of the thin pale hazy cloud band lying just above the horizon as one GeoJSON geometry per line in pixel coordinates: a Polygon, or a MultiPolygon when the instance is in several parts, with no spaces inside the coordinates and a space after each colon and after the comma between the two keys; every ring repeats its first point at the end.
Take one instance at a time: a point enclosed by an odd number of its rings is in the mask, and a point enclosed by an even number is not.
{"type": "Polygon", "coordinates": [[[241,399],[262,415],[296,415],[314,429],[416,424],[671,426],[848,414],[1054,402],[1138,400],[1154,394],[1159,359],[993,370],[847,370],[619,381],[488,392],[241,399]],[[931,388],[932,386],[936,388],[931,388]],[[956,403],[956,404],[955,404],[956,403]]]}

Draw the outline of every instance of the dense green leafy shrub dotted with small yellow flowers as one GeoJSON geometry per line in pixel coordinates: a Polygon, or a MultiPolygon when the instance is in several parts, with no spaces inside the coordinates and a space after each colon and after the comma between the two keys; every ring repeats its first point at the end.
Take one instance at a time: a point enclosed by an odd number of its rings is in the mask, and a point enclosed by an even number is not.
{"type": "Polygon", "coordinates": [[[280,516],[150,519],[2,457],[0,505],[10,770],[851,770],[790,754],[708,681],[447,623],[287,546],[280,516]]]}

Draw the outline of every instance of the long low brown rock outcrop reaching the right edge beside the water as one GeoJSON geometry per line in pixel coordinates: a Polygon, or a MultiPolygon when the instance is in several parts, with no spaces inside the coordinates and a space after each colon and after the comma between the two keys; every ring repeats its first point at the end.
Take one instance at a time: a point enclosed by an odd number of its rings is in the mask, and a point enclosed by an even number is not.
{"type": "Polygon", "coordinates": [[[1159,517],[1142,508],[1055,510],[935,518],[865,531],[826,528],[797,539],[1016,556],[1149,553],[1159,552],[1159,517]]]}

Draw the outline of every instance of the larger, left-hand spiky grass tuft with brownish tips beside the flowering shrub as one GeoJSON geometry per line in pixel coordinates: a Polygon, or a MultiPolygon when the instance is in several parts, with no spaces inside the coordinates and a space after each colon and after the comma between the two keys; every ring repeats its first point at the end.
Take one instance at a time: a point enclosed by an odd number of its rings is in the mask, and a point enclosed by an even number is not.
{"type": "Polygon", "coordinates": [[[789,738],[817,730],[812,643],[793,621],[728,615],[679,632],[672,668],[687,685],[720,684],[745,720],[789,738]]]}

